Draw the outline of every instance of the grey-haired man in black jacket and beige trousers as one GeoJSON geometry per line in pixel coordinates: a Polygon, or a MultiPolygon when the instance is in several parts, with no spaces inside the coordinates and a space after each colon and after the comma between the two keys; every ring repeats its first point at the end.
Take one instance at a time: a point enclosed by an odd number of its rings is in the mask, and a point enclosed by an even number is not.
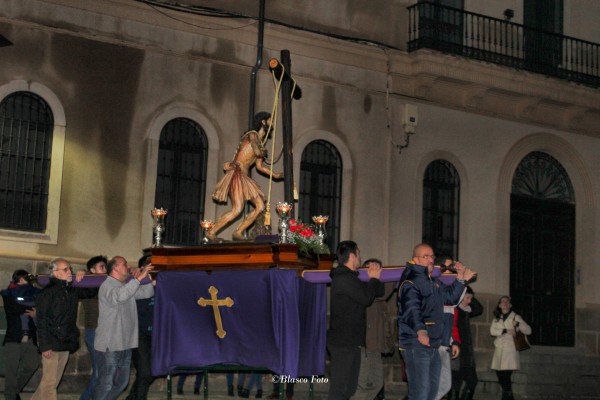
{"type": "MultiPolygon", "coordinates": [[[[71,264],[64,258],[50,261],[50,282],[36,298],[38,347],[42,353],[42,380],[31,400],[55,400],[56,388],[69,359],[79,347],[77,306],[80,298],[97,289],[73,287],[71,264]]],[[[78,273],[77,280],[85,274],[78,273]]]]}

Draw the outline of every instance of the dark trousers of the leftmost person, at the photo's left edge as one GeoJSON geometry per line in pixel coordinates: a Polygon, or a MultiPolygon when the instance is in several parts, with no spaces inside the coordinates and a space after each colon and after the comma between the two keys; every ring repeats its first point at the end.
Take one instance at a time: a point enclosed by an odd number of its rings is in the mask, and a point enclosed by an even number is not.
{"type": "Polygon", "coordinates": [[[27,343],[6,342],[4,344],[6,368],[4,398],[16,400],[35,371],[40,367],[40,355],[32,341],[27,343]]]}

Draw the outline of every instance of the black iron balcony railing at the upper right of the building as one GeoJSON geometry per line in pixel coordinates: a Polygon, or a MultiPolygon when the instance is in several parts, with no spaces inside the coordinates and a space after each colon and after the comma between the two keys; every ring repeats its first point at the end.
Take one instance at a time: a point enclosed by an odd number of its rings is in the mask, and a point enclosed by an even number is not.
{"type": "Polygon", "coordinates": [[[600,45],[429,2],[409,10],[408,51],[427,48],[600,87],[600,45]]]}

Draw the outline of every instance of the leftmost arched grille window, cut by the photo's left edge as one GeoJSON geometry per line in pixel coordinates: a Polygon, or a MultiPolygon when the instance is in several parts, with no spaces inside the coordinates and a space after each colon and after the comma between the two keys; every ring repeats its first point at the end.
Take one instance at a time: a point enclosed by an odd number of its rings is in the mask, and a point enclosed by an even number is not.
{"type": "Polygon", "coordinates": [[[29,92],[0,103],[0,228],[44,232],[54,116],[29,92]]]}

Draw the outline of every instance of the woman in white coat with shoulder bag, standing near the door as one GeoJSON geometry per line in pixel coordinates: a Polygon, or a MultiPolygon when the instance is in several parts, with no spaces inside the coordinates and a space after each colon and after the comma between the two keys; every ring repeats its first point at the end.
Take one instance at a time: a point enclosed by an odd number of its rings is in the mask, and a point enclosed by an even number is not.
{"type": "Polygon", "coordinates": [[[502,296],[494,310],[490,334],[495,336],[492,369],[496,370],[498,383],[502,387],[502,400],[513,400],[512,372],[520,368],[519,352],[515,349],[516,331],[531,334],[531,327],[512,310],[510,297],[502,296]]]}

